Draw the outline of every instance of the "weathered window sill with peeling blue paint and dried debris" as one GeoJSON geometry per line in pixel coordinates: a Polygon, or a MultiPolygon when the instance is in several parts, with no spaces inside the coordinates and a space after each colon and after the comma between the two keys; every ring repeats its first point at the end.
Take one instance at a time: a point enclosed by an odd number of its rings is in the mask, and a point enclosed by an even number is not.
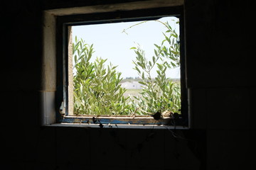
{"type": "Polygon", "coordinates": [[[46,126],[54,127],[80,127],[80,128],[127,128],[127,129],[188,129],[184,125],[182,118],[175,121],[166,117],[155,120],[152,117],[137,116],[65,116],[60,118],[58,123],[48,124],[46,126]]]}

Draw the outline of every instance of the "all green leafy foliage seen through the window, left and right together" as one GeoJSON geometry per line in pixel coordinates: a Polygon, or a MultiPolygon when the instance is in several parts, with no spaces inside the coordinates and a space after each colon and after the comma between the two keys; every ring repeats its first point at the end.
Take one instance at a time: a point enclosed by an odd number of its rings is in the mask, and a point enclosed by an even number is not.
{"type": "MultiPolygon", "coordinates": [[[[158,21],[162,23],[161,21],[158,21]]],[[[144,22],[142,22],[144,23],[144,22]]],[[[86,115],[153,115],[156,112],[179,113],[181,108],[181,88],[179,83],[166,77],[166,69],[180,65],[178,35],[169,26],[163,33],[161,45],[155,44],[154,56],[146,60],[141,47],[132,47],[137,55],[134,69],[141,79],[142,92],[137,97],[124,97],[120,85],[121,73],[117,66],[105,65],[107,60],[97,58],[90,61],[93,45],[75,38],[73,43],[74,69],[74,114],[86,115]],[[151,70],[157,67],[157,77],[151,77],[151,70]]],[[[139,24],[137,24],[139,25],[139,24]]],[[[132,28],[132,27],[130,27],[132,28]]],[[[125,30],[124,30],[125,31],[125,30]]]]}

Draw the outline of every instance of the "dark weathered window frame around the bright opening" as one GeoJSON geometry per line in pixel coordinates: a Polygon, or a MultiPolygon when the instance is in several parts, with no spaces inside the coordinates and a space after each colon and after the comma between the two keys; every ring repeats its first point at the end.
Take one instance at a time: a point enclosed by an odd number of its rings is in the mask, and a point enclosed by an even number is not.
{"type": "MultiPolygon", "coordinates": [[[[142,8],[128,11],[107,11],[99,13],[85,13],[75,15],[55,16],[55,70],[56,70],[56,89],[55,89],[55,115],[51,118],[53,123],[65,125],[87,125],[90,127],[183,127],[189,128],[188,115],[188,89],[186,88],[186,58],[184,43],[184,26],[183,26],[183,6],[164,6],[159,8],[142,8]],[[92,116],[74,116],[68,115],[68,34],[70,26],[78,26],[90,23],[118,23],[120,21],[142,21],[147,19],[157,19],[165,16],[179,16],[180,19],[180,40],[181,40],[181,118],[175,120],[176,125],[170,125],[171,118],[164,118],[156,123],[154,118],[145,116],[130,117],[92,117],[92,116]],[[64,115],[60,113],[60,106],[64,106],[64,115]],[[95,122],[96,121],[96,122],[95,122]],[[114,126],[113,126],[114,125],[114,126]],[[128,125],[128,126],[127,126],[128,125]]],[[[61,108],[62,109],[62,108],[61,108]]],[[[44,123],[52,124],[52,123],[44,123]]]]}

